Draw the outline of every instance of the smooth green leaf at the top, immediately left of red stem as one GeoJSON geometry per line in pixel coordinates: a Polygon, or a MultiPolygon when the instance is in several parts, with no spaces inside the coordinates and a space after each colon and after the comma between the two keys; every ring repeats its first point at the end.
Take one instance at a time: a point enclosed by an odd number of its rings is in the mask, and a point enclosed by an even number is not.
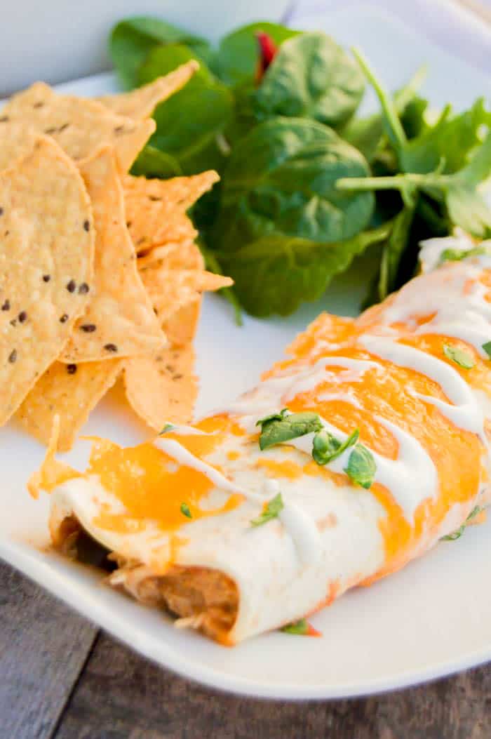
{"type": "Polygon", "coordinates": [[[254,80],[259,58],[256,33],[261,31],[277,46],[300,33],[277,23],[257,21],[224,36],[216,57],[216,73],[224,83],[236,86],[254,80]]]}

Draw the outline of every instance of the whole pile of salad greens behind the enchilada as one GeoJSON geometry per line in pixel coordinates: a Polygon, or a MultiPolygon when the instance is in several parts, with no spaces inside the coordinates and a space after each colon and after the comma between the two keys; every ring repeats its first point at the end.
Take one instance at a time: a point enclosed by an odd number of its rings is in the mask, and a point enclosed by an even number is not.
{"type": "Polygon", "coordinates": [[[212,47],[157,18],[128,18],[109,49],[126,88],[199,61],[157,106],[157,130],[132,171],[219,171],[191,215],[207,268],[235,280],[224,294],[237,315],[286,316],[367,250],[378,259],[368,305],[411,279],[420,240],[455,226],[491,234],[481,193],[491,113],[483,98],[466,111],[431,111],[419,92],[425,68],[391,94],[360,51],[267,21],[212,47]],[[360,117],[366,83],[380,109],[360,117]]]}

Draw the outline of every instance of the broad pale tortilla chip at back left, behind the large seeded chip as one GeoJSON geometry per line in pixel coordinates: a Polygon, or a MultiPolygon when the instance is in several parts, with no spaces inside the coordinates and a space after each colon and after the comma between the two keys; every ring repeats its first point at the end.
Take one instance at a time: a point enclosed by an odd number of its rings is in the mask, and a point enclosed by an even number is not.
{"type": "Polygon", "coordinates": [[[75,161],[112,144],[120,170],[126,172],[154,130],[154,120],[135,122],[114,115],[102,103],[58,95],[44,82],[35,82],[13,95],[0,112],[0,169],[28,154],[36,136],[49,134],[75,161]]]}

